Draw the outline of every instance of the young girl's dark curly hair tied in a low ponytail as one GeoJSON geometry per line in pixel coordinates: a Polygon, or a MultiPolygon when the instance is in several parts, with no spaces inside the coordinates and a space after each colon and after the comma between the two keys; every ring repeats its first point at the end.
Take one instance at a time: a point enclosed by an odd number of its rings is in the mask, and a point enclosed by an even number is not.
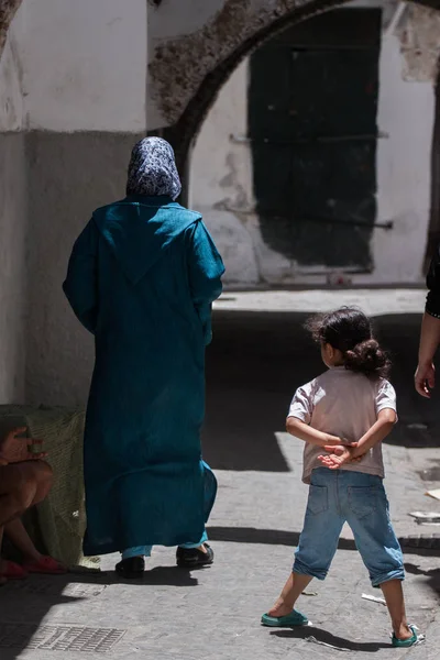
{"type": "Polygon", "coordinates": [[[311,317],[306,323],[314,339],[342,352],[345,369],[369,378],[386,378],[391,360],[373,337],[370,319],[355,307],[311,317]]]}

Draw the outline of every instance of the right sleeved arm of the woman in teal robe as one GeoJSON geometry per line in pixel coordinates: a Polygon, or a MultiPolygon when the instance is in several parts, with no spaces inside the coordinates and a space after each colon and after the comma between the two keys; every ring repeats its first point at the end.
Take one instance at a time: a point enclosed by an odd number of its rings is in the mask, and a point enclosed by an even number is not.
{"type": "Polygon", "coordinates": [[[190,228],[188,239],[189,288],[204,328],[205,343],[209,344],[212,339],[211,305],[221,295],[224,266],[201,220],[190,228]]]}

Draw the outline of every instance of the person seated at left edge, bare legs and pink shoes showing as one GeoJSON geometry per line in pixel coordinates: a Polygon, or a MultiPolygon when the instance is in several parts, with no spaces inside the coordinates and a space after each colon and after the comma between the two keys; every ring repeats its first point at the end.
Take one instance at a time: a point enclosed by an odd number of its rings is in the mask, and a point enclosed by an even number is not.
{"type": "Polygon", "coordinates": [[[52,469],[43,461],[43,452],[31,452],[41,442],[21,437],[15,429],[0,440],[0,548],[3,532],[23,554],[23,566],[0,558],[0,584],[8,579],[22,579],[29,572],[65,573],[66,569],[51,557],[42,556],[30,539],[21,516],[43,502],[52,486],[52,469]]]}

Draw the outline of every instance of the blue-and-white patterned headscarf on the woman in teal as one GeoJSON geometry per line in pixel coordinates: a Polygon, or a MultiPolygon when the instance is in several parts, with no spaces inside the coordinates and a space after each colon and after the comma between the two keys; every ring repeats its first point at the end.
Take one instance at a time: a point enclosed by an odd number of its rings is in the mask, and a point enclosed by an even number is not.
{"type": "Polygon", "coordinates": [[[144,138],[134,145],[129,165],[128,195],[166,195],[176,199],[182,185],[170,144],[162,138],[144,138]]]}

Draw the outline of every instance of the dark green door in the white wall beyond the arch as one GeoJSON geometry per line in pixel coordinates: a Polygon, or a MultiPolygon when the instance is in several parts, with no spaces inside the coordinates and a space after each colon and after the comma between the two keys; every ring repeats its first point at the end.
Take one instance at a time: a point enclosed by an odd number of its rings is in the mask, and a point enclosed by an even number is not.
{"type": "Polygon", "coordinates": [[[380,10],[336,10],[251,58],[263,239],[300,265],[371,267],[380,38],[380,10]]]}

